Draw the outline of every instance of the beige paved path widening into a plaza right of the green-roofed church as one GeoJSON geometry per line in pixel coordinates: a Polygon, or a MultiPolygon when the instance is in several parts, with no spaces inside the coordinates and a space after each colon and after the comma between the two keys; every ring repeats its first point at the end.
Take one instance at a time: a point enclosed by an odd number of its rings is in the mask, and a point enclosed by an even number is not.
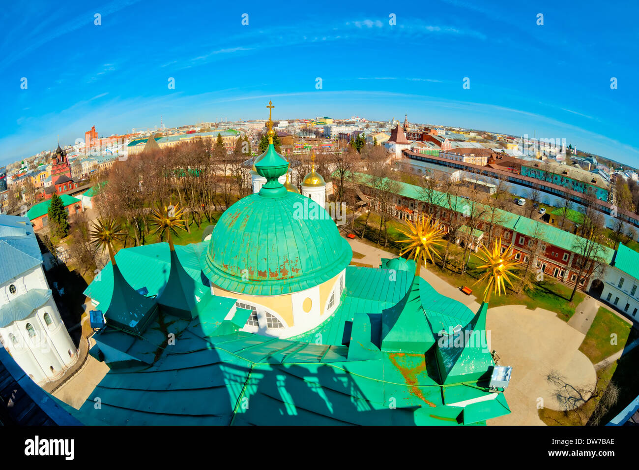
{"type": "MultiPolygon", "coordinates": [[[[359,263],[378,267],[381,258],[396,257],[357,239],[348,241],[353,251],[364,255],[364,258],[355,260],[359,263]]],[[[463,294],[457,286],[439,278],[432,270],[422,269],[420,272],[422,278],[440,294],[465,304],[472,311],[479,310],[480,304],[474,296],[463,294]]],[[[595,307],[596,301],[593,301],[584,306],[589,312],[595,307]]],[[[588,322],[592,322],[598,308],[596,306],[594,313],[588,315],[588,322]]],[[[585,325],[583,321],[581,328],[585,325]]],[[[585,327],[586,332],[589,327],[590,324],[585,327]]],[[[541,308],[530,310],[524,305],[489,308],[486,328],[490,332],[489,349],[497,350],[500,364],[512,366],[511,385],[504,393],[512,412],[491,419],[489,425],[543,426],[537,411],[538,399],[543,399],[544,407],[560,409],[554,398],[555,388],[546,380],[551,370],[557,370],[568,383],[576,386],[596,383],[594,366],[579,350],[585,333],[560,320],[555,312],[541,308]]]]}

